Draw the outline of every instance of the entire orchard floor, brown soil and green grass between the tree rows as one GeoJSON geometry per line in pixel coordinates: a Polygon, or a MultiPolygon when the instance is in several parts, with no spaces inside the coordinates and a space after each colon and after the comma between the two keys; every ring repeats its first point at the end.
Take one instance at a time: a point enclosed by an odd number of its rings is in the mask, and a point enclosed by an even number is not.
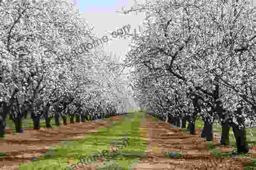
{"type": "MultiPolygon", "coordinates": [[[[25,134],[7,134],[8,140],[1,141],[5,141],[5,146],[0,147],[0,169],[9,170],[12,167],[19,170],[64,170],[71,164],[78,166],[81,158],[96,152],[114,152],[113,142],[124,137],[129,139],[129,145],[124,146],[117,157],[111,160],[99,159],[90,165],[80,164],[80,168],[73,169],[100,169],[99,165],[105,169],[109,166],[110,169],[124,170],[238,170],[256,167],[256,149],[253,142],[250,143],[249,154],[232,158],[231,153],[235,150],[232,134],[230,146],[219,146],[220,129],[215,124],[214,140],[207,142],[200,137],[202,124],[201,120],[197,120],[196,134],[190,135],[186,129],[171,128],[169,123],[158,121],[145,112],[136,112],[107,118],[102,122],[75,123],[58,127],[59,129],[51,128],[51,131],[43,128],[34,132],[30,130],[29,133],[25,131],[25,134]],[[173,154],[175,152],[179,153],[176,157],[173,154]],[[37,157],[37,160],[30,161],[32,157],[37,157]],[[9,164],[9,167],[4,168],[3,164],[9,164]]],[[[248,135],[248,139],[254,140],[254,137],[248,135]]]]}

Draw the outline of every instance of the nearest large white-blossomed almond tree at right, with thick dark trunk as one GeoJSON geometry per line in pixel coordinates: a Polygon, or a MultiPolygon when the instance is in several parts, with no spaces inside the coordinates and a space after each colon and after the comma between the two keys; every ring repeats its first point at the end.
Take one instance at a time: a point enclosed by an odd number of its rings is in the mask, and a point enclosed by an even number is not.
{"type": "Polygon", "coordinates": [[[137,10],[147,12],[145,25],[150,29],[134,38],[128,65],[144,64],[150,72],[169,72],[189,90],[188,97],[194,107],[192,125],[195,116],[202,112],[202,104],[207,103],[204,113],[211,127],[216,113],[229,120],[237,136],[238,152],[248,152],[245,121],[237,122],[235,112],[243,116],[238,106],[241,100],[252,111],[255,108],[252,1],[234,5],[215,0],[162,0],[138,5],[131,11],[137,10]]]}

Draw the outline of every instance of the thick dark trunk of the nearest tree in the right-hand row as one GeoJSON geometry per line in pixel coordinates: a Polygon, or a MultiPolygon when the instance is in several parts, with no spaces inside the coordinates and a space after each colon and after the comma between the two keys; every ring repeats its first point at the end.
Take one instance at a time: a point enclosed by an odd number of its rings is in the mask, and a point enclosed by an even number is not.
{"type": "Polygon", "coordinates": [[[246,128],[238,129],[238,126],[232,123],[232,130],[235,135],[235,140],[237,142],[237,152],[238,153],[248,153],[250,151],[250,146],[246,141],[246,128]]]}

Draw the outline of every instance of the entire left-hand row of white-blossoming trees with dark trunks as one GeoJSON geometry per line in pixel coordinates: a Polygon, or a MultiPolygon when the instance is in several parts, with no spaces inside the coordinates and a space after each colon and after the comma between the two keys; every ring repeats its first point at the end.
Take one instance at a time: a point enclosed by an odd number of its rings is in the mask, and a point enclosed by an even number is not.
{"type": "Polygon", "coordinates": [[[64,0],[0,0],[0,136],[10,114],[16,131],[30,113],[34,129],[44,117],[64,125],[127,110],[129,91],[122,64],[102,51],[86,51],[96,37],[64,0]],[[78,48],[79,47],[79,48],[78,48]]]}

